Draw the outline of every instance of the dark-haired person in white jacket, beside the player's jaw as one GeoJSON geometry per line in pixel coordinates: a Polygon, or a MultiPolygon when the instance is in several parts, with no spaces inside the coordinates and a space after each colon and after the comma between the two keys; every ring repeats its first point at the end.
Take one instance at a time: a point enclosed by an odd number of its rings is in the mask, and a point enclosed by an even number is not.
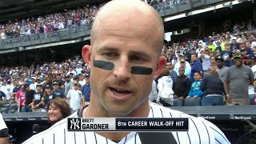
{"type": "Polygon", "coordinates": [[[170,70],[165,68],[162,71],[162,78],[158,79],[158,98],[157,103],[162,106],[174,105],[174,82],[170,76],[170,70]]]}

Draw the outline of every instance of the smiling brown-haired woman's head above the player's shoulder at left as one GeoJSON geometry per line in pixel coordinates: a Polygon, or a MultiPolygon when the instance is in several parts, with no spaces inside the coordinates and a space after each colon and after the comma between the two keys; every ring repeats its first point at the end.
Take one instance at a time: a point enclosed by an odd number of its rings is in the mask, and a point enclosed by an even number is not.
{"type": "Polygon", "coordinates": [[[48,122],[52,125],[71,114],[70,106],[62,98],[50,100],[46,106],[46,110],[48,113],[48,122]]]}

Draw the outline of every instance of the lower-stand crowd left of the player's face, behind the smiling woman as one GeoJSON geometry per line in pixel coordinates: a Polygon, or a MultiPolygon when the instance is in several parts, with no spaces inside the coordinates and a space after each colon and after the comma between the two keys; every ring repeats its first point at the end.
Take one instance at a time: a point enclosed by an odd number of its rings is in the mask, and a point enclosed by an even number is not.
{"type": "Polygon", "coordinates": [[[78,110],[90,102],[89,78],[90,70],[82,59],[2,67],[0,102],[7,108],[2,112],[45,111],[54,98],[65,99],[71,110],[78,110]]]}

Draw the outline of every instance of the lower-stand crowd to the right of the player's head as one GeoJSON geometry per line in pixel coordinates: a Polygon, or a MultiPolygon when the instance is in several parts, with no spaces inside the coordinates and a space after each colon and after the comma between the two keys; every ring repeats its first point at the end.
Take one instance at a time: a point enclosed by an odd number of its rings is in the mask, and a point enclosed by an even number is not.
{"type": "Polygon", "coordinates": [[[153,82],[150,101],[163,106],[254,105],[254,32],[165,42],[166,68],[153,82]]]}

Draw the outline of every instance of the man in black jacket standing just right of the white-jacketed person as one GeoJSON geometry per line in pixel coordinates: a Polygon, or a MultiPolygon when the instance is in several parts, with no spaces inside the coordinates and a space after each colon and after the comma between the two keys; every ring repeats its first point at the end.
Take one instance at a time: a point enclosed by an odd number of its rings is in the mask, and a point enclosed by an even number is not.
{"type": "Polygon", "coordinates": [[[174,94],[175,98],[178,98],[180,101],[182,101],[190,92],[191,87],[191,81],[190,78],[188,78],[185,75],[185,68],[180,67],[178,69],[178,77],[176,78],[174,82],[174,94]]]}

